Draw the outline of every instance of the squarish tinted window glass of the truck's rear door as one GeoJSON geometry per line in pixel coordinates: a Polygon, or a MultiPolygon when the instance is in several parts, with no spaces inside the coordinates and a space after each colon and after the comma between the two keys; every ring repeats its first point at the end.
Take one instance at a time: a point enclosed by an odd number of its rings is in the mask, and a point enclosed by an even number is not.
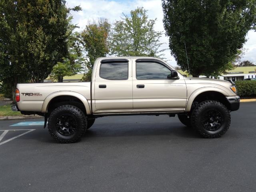
{"type": "Polygon", "coordinates": [[[128,79],[128,62],[102,63],[100,77],[109,80],[128,79]]]}

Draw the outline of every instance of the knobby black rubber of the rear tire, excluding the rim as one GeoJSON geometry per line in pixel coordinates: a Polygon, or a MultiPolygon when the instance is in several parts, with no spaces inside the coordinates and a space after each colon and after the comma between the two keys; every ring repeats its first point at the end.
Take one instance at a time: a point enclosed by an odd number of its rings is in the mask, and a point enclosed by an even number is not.
{"type": "Polygon", "coordinates": [[[74,143],[80,140],[84,132],[86,131],[87,119],[84,115],[84,112],[80,110],[78,107],[73,105],[63,105],[54,109],[49,118],[48,118],[48,130],[50,135],[60,143],[74,143]],[[62,114],[70,114],[74,117],[77,123],[76,132],[71,136],[63,136],[61,135],[55,126],[56,118],[61,116],[62,114]]]}

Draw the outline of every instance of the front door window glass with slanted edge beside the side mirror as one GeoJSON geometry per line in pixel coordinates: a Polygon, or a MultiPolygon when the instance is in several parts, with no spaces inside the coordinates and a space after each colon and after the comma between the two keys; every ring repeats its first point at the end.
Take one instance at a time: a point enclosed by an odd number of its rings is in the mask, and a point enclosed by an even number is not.
{"type": "Polygon", "coordinates": [[[137,62],[136,78],[137,79],[167,79],[171,74],[170,69],[166,66],[154,62],[137,62]]]}

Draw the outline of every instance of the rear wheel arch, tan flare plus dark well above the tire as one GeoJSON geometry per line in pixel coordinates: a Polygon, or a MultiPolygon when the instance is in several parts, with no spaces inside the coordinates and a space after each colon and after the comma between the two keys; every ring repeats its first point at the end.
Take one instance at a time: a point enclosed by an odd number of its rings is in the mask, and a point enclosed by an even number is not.
{"type": "Polygon", "coordinates": [[[74,99],[76,102],[81,103],[82,106],[84,106],[87,115],[91,114],[88,100],[82,94],[73,91],[58,91],[48,95],[42,105],[42,112],[46,113],[50,105],[56,103],[56,100],[58,100],[58,102],[68,102],[68,100],[74,99]]]}

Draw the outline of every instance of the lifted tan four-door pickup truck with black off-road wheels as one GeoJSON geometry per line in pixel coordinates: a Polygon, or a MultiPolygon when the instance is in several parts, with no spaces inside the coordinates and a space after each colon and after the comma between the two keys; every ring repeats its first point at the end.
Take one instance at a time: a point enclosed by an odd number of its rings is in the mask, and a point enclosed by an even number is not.
{"type": "Polygon", "coordinates": [[[12,110],[44,116],[50,135],[71,143],[112,115],[177,114],[203,137],[218,138],[239,105],[228,81],[187,78],[158,58],[114,57],[95,61],[91,82],[18,84],[12,110]]]}

